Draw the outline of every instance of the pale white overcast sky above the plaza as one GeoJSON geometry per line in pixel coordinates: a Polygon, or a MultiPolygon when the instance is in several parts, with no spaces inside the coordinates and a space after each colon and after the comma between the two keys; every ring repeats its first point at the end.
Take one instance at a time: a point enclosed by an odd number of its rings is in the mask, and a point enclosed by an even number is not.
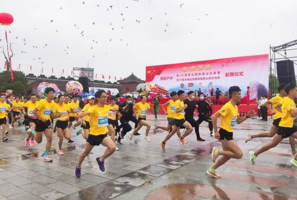
{"type": "MultiPolygon", "coordinates": [[[[50,76],[53,68],[53,75],[60,77],[64,69],[67,77],[73,67],[87,67],[89,61],[100,80],[102,74],[105,80],[108,75],[114,80],[132,72],[145,80],[146,66],[265,54],[269,44],[297,39],[297,0],[1,0],[0,4],[0,12],[14,17],[10,27],[0,26],[0,46],[5,45],[6,28],[14,43],[12,67],[16,70],[20,63],[26,74],[32,65],[35,75],[44,68],[50,76]]],[[[0,71],[3,64],[1,53],[0,71]]]]}

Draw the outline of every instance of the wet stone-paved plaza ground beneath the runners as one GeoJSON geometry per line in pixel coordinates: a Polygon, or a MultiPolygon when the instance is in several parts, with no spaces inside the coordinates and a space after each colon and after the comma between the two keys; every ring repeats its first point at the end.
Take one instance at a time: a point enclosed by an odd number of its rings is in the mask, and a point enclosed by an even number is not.
{"type": "MultiPolygon", "coordinates": [[[[163,116],[157,121],[149,116],[148,121],[152,127],[156,123],[167,124],[163,116]]],[[[126,136],[123,144],[117,145],[120,151],[105,160],[104,172],[95,159],[105,148],[95,147],[82,164],[81,178],[74,174],[85,145],[81,135],[72,133],[72,144],[64,140],[64,156],[59,156],[58,138],[53,133],[53,162],[48,163],[42,157],[45,136],[41,144],[26,148],[24,127],[15,127],[9,130],[8,141],[0,143],[0,200],[297,200],[297,167],[290,163],[288,140],[260,155],[255,165],[249,163],[248,152],[270,138],[257,138],[246,144],[247,134],[268,130],[271,123],[271,119],[250,119],[235,126],[234,139],[244,156],[217,169],[221,179],[205,173],[212,165],[211,148],[221,147],[209,136],[205,122],[200,127],[205,142],[197,142],[193,132],[183,147],[175,135],[166,143],[165,152],[159,142],[166,132],[153,134],[151,130],[151,142],[146,142],[142,128],[140,136],[134,136],[132,141],[126,136]]]]}

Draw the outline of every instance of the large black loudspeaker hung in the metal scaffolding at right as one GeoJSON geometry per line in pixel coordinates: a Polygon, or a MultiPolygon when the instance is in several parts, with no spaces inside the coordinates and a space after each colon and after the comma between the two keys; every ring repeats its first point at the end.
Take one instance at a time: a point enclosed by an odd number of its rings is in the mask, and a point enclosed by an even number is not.
{"type": "Polygon", "coordinates": [[[294,62],[292,60],[282,60],[276,62],[277,78],[279,83],[292,82],[296,84],[294,62]]]}

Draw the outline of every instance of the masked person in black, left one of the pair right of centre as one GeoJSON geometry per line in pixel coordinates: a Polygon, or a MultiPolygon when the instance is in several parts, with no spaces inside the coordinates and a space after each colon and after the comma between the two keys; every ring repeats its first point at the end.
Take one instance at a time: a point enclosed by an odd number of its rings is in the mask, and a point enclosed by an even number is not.
{"type": "Polygon", "coordinates": [[[203,140],[199,134],[199,124],[194,119],[194,111],[195,109],[198,108],[197,102],[194,99],[195,99],[194,91],[189,91],[188,98],[184,100],[184,104],[188,105],[188,107],[185,109],[185,120],[188,121],[193,128],[195,128],[197,141],[204,142],[205,140],[203,140]]]}

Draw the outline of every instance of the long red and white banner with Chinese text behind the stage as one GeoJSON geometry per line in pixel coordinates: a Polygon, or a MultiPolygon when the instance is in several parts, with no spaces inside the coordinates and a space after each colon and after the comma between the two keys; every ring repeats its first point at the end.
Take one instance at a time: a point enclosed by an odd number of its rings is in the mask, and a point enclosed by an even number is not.
{"type": "Polygon", "coordinates": [[[212,88],[226,92],[237,85],[245,96],[250,86],[253,99],[268,94],[268,77],[268,54],[157,65],[146,68],[146,90],[167,95],[179,89],[188,92],[201,88],[209,94],[212,88]]]}

